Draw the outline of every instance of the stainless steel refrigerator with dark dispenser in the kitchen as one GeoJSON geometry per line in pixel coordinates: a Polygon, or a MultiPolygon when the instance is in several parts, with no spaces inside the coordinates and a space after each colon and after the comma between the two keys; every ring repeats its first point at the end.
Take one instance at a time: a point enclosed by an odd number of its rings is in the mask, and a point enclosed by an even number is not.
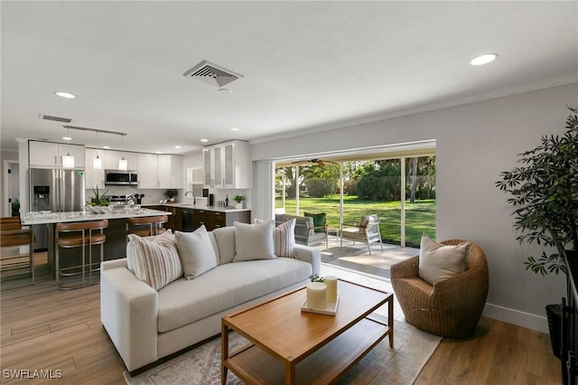
{"type": "MultiPolygon", "coordinates": [[[[30,169],[30,211],[82,211],[84,170],[30,169]]],[[[47,248],[47,231],[33,226],[34,249],[47,248]]]]}

